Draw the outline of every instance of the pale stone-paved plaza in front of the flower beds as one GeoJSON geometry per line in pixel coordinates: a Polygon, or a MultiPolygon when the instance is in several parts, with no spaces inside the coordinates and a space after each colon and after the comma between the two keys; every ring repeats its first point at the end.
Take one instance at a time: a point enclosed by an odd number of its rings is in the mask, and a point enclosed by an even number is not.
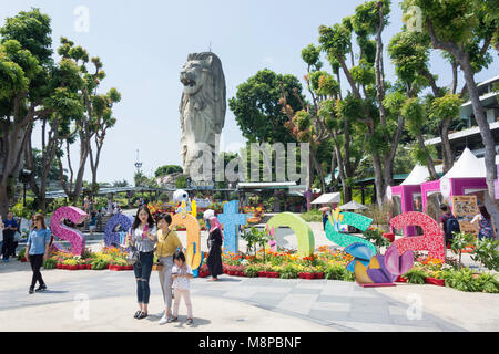
{"type": "MultiPolygon", "coordinates": [[[[135,281],[130,271],[45,270],[45,293],[28,294],[31,271],[12,261],[0,267],[0,331],[170,331],[141,325],[135,311],[135,281]],[[75,296],[90,300],[91,321],[75,321],[75,296]],[[64,319],[62,321],[61,319],[64,319]],[[34,329],[33,329],[34,326],[34,329]]],[[[218,282],[194,279],[192,301],[198,326],[193,331],[498,331],[495,294],[460,293],[440,288],[440,311],[425,293],[435,285],[403,284],[363,289],[353,282],[221,277],[218,282]],[[452,301],[458,293],[459,303],[452,301]],[[395,296],[393,294],[396,294],[395,296]],[[478,296],[477,296],[478,295],[478,296]],[[488,295],[488,296],[480,296],[488,295]],[[415,308],[421,304],[420,316],[415,308]],[[422,300],[425,299],[425,300],[422,300]],[[442,305],[447,299],[447,306],[442,305]],[[472,306],[470,306],[472,304],[472,306]],[[459,309],[472,310],[467,321],[452,317],[459,309]],[[416,319],[413,319],[416,314],[416,319]],[[450,319],[450,320],[449,320],[450,319]],[[481,323],[483,325],[481,325],[481,323]]],[[[151,277],[150,312],[163,310],[157,273],[151,277]]],[[[434,300],[435,300],[434,299],[434,300]]],[[[185,310],[181,305],[181,314],[185,310]]],[[[181,327],[183,327],[181,325],[181,327]]],[[[180,329],[180,327],[179,327],[180,329]]]]}

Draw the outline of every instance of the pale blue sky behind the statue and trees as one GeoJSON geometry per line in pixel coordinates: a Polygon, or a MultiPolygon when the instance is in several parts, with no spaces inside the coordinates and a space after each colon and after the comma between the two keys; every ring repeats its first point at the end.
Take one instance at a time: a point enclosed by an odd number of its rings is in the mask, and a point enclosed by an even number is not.
{"type": "MultiPolygon", "coordinates": [[[[85,48],[90,55],[101,58],[108,75],[102,91],[114,86],[122,93],[122,101],[114,110],[116,126],[104,142],[98,179],[133,183],[136,149],[146,175],[164,164],[181,164],[179,72],[189,53],[207,51],[212,43],[212,51],[223,63],[227,98],[235,95],[238,84],[264,67],[294,74],[303,82],[306,67],[301,60],[302,49],[317,43],[320,24],[339,22],[361,2],[17,0],[2,3],[0,23],[19,11],[40,8],[52,19],[54,48],[64,35],[85,48]],[[74,11],[80,6],[89,10],[88,32],[75,30],[74,11]]],[[[400,28],[401,11],[394,1],[390,24],[384,33],[385,49],[400,28]]],[[[391,80],[394,66],[386,55],[385,60],[387,79],[391,80]]],[[[439,74],[438,83],[448,85],[450,67],[438,53],[432,54],[431,65],[439,74]]],[[[496,60],[476,77],[482,81],[498,72],[496,60]]],[[[222,138],[225,150],[236,150],[237,143],[244,142],[228,106],[222,138]]],[[[39,142],[37,134],[34,146],[39,142]]],[[[72,160],[77,162],[77,157],[74,146],[72,160]]],[[[85,179],[91,179],[90,167],[85,179]]]]}

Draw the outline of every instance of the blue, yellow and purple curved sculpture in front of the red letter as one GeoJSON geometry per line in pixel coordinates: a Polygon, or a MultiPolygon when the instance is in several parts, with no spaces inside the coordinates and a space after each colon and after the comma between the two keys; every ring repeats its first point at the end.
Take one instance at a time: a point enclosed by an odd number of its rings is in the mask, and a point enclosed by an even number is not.
{"type": "Polygon", "coordinates": [[[379,253],[374,254],[364,243],[353,243],[345,249],[345,252],[355,257],[347,264],[347,270],[355,273],[359,284],[389,284],[397,278],[385,267],[386,257],[379,253]]]}

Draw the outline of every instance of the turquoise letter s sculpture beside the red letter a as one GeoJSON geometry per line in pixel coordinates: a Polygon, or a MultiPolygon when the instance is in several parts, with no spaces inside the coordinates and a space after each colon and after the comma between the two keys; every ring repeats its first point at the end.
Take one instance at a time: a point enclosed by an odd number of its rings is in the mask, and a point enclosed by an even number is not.
{"type": "MultiPolygon", "coordinates": [[[[329,241],[335,242],[340,247],[348,247],[354,243],[364,243],[367,246],[373,254],[376,254],[376,247],[369,241],[358,236],[339,232],[339,225],[349,225],[363,231],[366,231],[373,219],[355,212],[339,212],[339,208],[329,217],[329,222],[326,222],[326,237],[329,241]]],[[[370,258],[369,258],[370,259],[370,258]]]]}

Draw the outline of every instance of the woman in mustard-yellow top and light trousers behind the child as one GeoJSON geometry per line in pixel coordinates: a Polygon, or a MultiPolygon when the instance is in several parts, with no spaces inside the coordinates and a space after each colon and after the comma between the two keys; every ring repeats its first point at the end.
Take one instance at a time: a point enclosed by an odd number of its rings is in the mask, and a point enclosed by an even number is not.
{"type": "Polygon", "coordinates": [[[170,214],[162,214],[156,218],[157,225],[157,246],[156,256],[163,269],[157,272],[160,275],[161,290],[163,291],[163,299],[165,311],[160,324],[165,324],[172,321],[170,316],[170,309],[172,308],[172,268],[173,254],[177,248],[182,249],[182,242],[176,232],[170,229],[172,217],[170,214]]]}

